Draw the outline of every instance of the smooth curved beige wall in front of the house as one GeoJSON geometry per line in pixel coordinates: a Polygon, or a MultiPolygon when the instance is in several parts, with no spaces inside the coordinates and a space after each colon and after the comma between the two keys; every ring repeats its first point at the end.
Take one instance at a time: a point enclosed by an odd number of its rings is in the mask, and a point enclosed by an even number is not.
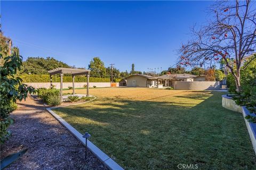
{"type": "Polygon", "coordinates": [[[175,81],[176,90],[219,90],[219,81],[175,81]]]}

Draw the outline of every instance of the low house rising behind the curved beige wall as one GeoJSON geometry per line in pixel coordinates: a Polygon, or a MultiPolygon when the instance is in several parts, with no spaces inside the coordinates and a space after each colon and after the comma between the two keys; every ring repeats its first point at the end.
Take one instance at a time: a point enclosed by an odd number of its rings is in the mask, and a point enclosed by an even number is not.
{"type": "Polygon", "coordinates": [[[205,81],[205,76],[193,74],[165,74],[157,77],[158,83],[164,87],[174,87],[175,81],[205,81]]]}

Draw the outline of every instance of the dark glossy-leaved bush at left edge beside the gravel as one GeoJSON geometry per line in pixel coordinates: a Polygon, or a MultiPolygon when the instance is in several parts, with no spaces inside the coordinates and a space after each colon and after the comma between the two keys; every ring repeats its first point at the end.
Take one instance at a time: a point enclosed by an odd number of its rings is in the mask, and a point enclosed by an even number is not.
{"type": "Polygon", "coordinates": [[[13,123],[13,120],[9,117],[9,114],[16,108],[16,105],[14,105],[14,103],[16,103],[17,100],[21,101],[22,99],[26,99],[28,93],[34,93],[35,90],[31,86],[22,84],[21,78],[14,77],[15,75],[17,75],[17,71],[20,71],[21,69],[22,57],[19,55],[18,48],[13,48],[13,52],[14,54],[12,56],[6,56],[5,58],[2,58],[2,53],[0,55],[1,60],[3,60],[3,65],[0,66],[1,143],[4,143],[4,141],[9,139],[11,135],[11,132],[7,131],[7,129],[9,128],[10,124],[13,123]]]}

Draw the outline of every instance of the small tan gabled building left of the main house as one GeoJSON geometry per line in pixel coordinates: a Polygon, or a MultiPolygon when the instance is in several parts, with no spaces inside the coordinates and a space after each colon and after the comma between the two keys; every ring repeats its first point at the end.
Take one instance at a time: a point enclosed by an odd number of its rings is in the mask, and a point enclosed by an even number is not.
{"type": "Polygon", "coordinates": [[[127,87],[157,87],[157,78],[150,75],[133,74],[127,79],[127,87]]]}

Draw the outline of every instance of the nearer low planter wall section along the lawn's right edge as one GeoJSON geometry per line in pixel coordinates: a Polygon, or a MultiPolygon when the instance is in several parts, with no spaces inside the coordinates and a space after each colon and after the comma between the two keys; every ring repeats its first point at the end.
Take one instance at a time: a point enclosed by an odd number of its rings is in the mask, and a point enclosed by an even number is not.
{"type": "MultiPolygon", "coordinates": [[[[242,106],[242,110],[243,110],[244,117],[250,114],[250,112],[246,109],[245,106],[242,106]]],[[[252,146],[256,155],[256,124],[252,122],[248,122],[246,118],[244,118],[244,121],[245,121],[247,130],[249,132],[249,135],[252,141],[252,146]]]]}

